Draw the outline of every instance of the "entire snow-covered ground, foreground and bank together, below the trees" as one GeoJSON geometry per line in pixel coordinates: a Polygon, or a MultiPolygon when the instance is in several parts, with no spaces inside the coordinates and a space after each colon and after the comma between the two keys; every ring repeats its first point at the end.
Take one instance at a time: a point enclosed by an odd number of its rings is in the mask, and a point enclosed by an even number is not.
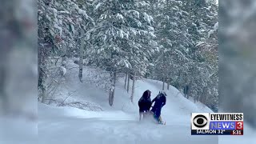
{"type": "MultiPolygon", "coordinates": [[[[72,61],[68,67],[76,67],[72,61]]],[[[79,82],[77,70],[66,71],[69,83],[60,86],[63,98],[68,91],[75,91],[66,102],[90,102],[102,111],[80,110],[70,106],[47,106],[38,104],[39,143],[217,143],[217,136],[195,137],[190,135],[190,113],[211,112],[200,103],[194,104],[182,96],[173,86],[166,90],[167,102],[162,109],[166,126],[152,122],[138,122],[138,99],[145,90],[151,90],[154,98],[161,90],[162,82],[142,79],[135,84],[134,104],[130,94],[124,89],[124,79],[120,78],[114,98],[114,106],[108,105],[108,95],[101,86],[91,85],[89,67],[84,68],[84,81],[79,82]],[[74,81],[71,81],[71,79],[74,81]],[[86,82],[86,80],[88,82],[86,82]],[[69,88],[69,89],[66,89],[69,88]],[[66,91],[65,91],[66,90],[66,91]]],[[[59,97],[61,98],[61,97],[59,97]]]]}

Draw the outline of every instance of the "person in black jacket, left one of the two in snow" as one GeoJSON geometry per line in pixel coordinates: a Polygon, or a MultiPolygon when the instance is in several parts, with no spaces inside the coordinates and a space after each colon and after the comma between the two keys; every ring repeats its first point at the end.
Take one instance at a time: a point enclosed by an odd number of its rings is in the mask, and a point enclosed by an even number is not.
{"type": "Polygon", "coordinates": [[[151,98],[150,98],[151,91],[146,90],[144,91],[142,98],[138,100],[138,107],[139,107],[139,121],[142,120],[142,115],[144,117],[144,114],[146,112],[150,111],[150,107],[152,105],[151,98]]]}

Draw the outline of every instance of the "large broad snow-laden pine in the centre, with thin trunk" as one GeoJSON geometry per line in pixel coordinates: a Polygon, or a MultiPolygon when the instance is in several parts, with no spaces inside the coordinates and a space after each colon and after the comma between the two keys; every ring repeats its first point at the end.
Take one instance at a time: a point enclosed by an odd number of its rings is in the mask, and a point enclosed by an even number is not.
{"type": "Polygon", "coordinates": [[[144,1],[96,0],[93,4],[96,26],[91,33],[93,42],[89,53],[93,57],[97,55],[92,58],[97,66],[110,71],[112,106],[117,73],[125,69],[130,74],[146,73],[148,58],[156,46],[152,40],[153,18],[141,8],[147,6],[144,1]]]}

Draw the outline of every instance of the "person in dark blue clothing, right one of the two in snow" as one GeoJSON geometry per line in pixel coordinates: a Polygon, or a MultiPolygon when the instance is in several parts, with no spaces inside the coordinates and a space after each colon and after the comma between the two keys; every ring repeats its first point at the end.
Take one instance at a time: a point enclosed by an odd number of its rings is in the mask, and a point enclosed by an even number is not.
{"type": "Polygon", "coordinates": [[[154,113],[154,118],[158,122],[160,122],[159,119],[161,119],[160,115],[161,115],[162,106],[166,105],[166,96],[167,94],[165,91],[160,91],[158,96],[152,100],[152,103],[154,102],[154,106],[150,111],[154,113]]]}

